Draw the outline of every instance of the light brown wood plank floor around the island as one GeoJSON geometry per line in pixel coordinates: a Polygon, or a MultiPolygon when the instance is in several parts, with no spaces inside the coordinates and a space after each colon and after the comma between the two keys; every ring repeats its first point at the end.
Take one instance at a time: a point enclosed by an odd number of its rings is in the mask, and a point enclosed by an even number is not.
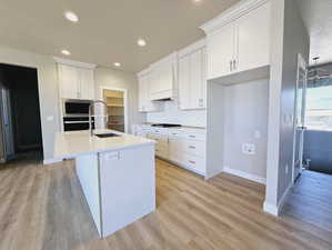
{"type": "MultiPolygon", "coordinates": [[[[315,196],[302,201],[294,193],[284,214],[274,218],[261,210],[264,186],[230,174],[204,181],[161,160],[157,186],[155,212],[99,239],[71,161],[8,164],[0,170],[0,249],[332,249],[331,220],[302,220],[301,211],[291,211],[316,202],[315,196]]],[[[331,218],[331,199],[319,202],[311,217],[328,209],[331,218]]]]}

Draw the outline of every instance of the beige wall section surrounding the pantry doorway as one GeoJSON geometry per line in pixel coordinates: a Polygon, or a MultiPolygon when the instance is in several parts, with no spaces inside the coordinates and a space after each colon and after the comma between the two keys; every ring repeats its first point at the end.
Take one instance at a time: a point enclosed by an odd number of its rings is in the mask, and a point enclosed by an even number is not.
{"type": "Polygon", "coordinates": [[[101,87],[120,88],[128,90],[128,128],[131,131],[131,126],[141,123],[143,114],[139,113],[138,101],[138,79],[134,73],[113,70],[111,68],[98,67],[94,71],[95,94],[101,99],[101,87]]]}

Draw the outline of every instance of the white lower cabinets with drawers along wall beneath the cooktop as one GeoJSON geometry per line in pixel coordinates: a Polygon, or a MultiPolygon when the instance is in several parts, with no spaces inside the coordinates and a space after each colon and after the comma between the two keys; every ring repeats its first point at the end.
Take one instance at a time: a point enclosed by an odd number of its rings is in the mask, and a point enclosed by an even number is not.
{"type": "Polygon", "coordinates": [[[205,132],[134,126],[133,134],[155,140],[155,156],[205,176],[205,132]]]}

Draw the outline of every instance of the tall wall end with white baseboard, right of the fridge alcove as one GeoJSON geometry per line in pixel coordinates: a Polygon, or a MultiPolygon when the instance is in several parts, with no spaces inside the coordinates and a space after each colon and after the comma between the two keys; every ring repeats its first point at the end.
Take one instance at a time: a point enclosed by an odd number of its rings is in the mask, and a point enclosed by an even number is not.
{"type": "Polygon", "coordinates": [[[294,0],[272,1],[272,16],[264,210],[278,214],[292,186],[298,53],[308,61],[310,39],[294,0]]]}

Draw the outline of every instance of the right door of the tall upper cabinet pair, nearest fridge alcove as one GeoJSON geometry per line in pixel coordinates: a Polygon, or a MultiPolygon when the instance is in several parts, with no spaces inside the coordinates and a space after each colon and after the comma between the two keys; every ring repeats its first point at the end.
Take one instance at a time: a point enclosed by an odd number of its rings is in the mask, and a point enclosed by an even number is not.
{"type": "Polygon", "coordinates": [[[190,76],[191,76],[191,109],[204,108],[203,89],[204,89],[204,73],[203,73],[203,50],[198,50],[190,56],[190,76]]]}

